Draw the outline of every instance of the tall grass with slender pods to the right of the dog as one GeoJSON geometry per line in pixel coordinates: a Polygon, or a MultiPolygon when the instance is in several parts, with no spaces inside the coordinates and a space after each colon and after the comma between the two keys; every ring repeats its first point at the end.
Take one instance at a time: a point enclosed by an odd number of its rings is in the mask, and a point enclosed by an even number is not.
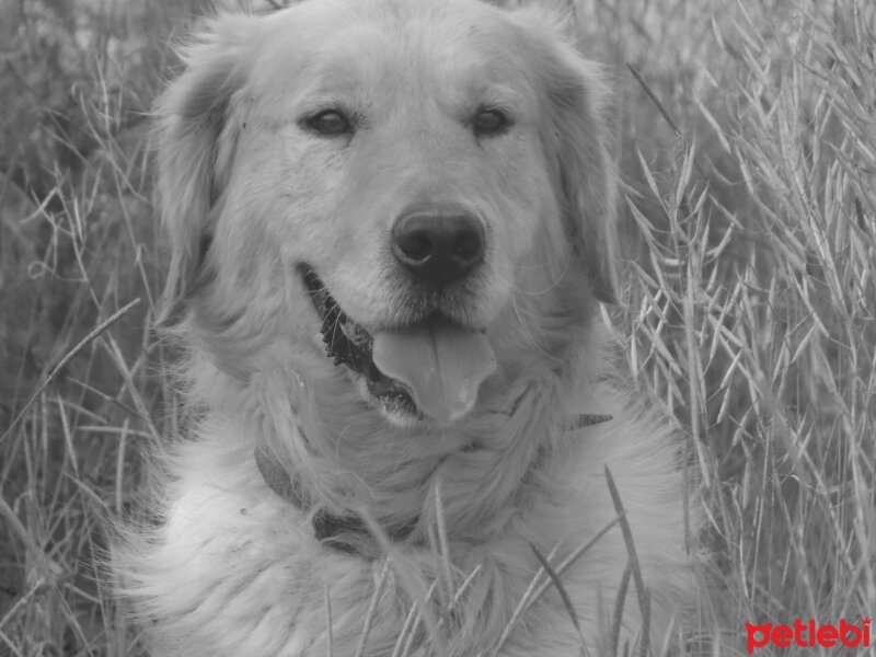
{"type": "Polygon", "coordinates": [[[620,323],[694,438],[726,654],[745,621],[876,609],[876,5],[705,9],[696,59],[638,71],[672,151],[658,170],[631,145],[643,240],[620,323]]]}

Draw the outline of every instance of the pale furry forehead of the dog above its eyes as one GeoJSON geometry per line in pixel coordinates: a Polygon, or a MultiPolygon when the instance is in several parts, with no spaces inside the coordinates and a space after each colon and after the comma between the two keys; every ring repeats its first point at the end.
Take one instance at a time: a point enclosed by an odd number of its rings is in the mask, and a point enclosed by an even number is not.
{"type": "Polygon", "coordinates": [[[311,0],[283,13],[264,51],[293,69],[290,83],[318,87],[311,91],[400,88],[410,95],[423,82],[520,92],[531,78],[518,26],[479,0],[311,0]]]}

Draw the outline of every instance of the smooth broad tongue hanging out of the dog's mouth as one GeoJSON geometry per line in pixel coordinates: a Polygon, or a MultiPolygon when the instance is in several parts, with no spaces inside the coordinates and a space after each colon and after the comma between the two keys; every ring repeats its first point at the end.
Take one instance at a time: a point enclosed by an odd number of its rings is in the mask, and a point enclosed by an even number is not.
{"type": "Polygon", "coordinates": [[[442,422],[471,411],[481,383],[496,369],[484,334],[446,324],[378,332],[372,358],[410,389],[420,411],[442,422]]]}

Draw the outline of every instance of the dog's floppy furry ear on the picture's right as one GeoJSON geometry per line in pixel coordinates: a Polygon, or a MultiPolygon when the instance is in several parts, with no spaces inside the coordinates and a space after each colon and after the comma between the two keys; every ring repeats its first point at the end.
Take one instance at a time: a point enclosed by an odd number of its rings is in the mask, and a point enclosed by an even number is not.
{"type": "Polygon", "coordinates": [[[561,36],[568,32],[551,25],[540,35],[542,141],[585,275],[597,299],[616,303],[619,175],[606,118],[608,90],[600,68],[561,36]]]}

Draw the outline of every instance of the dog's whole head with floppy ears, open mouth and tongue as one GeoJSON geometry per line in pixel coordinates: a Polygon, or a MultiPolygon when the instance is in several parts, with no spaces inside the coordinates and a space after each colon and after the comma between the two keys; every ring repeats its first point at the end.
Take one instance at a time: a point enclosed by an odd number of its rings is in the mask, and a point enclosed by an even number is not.
{"type": "Polygon", "coordinates": [[[396,424],[451,423],[540,323],[613,299],[599,81],[540,16],[309,0],[214,23],[159,165],[170,301],[227,369],[292,344],[396,424]]]}

